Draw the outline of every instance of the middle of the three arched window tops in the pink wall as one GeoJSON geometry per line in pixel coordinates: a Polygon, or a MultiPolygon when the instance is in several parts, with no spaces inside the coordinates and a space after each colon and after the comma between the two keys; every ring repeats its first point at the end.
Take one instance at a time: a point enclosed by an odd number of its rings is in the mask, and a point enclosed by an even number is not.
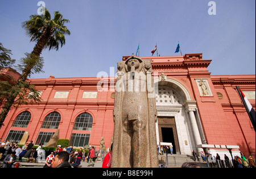
{"type": "Polygon", "coordinates": [[[58,128],[60,124],[60,114],[52,112],[44,118],[42,128],[58,128]]]}

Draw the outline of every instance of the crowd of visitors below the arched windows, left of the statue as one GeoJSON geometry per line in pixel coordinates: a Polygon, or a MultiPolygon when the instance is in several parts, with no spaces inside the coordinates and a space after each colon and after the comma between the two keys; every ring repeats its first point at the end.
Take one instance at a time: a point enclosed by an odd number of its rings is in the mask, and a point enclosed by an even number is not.
{"type": "Polygon", "coordinates": [[[94,166],[94,162],[98,157],[98,151],[91,146],[89,152],[86,153],[82,148],[76,151],[72,147],[63,148],[57,145],[55,151],[42,148],[43,144],[39,144],[38,148],[34,147],[33,141],[19,147],[18,143],[0,141],[0,160],[3,161],[2,168],[19,167],[22,158],[25,157],[27,163],[46,163],[44,168],[56,167],[73,167],[79,168],[81,161],[87,161],[88,166],[94,166]],[[67,157],[68,156],[68,157],[67,157]],[[58,165],[57,165],[58,164],[58,165]]]}

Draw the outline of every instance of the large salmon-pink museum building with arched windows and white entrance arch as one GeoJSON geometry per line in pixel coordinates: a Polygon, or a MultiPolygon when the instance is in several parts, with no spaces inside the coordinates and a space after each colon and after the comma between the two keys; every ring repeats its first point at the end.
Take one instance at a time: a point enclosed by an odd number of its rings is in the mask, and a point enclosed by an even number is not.
{"type": "MultiPolygon", "coordinates": [[[[182,155],[191,155],[199,144],[238,145],[234,155],[243,152],[255,158],[255,131],[236,90],[240,86],[255,109],[255,75],[210,75],[207,67],[212,60],[203,60],[201,53],[141,59],[152,59],[158,144],[171,142],[174,153],[182,155]]],[[[114,77],[27,81],[42,92],[42,102],[11,110],[0,130],[2,140],[20,141],[27,131],[28,141],[46,145],[59,130],[59,138],[76,147],[91,144],[99,149],[101,137],[110,147],[114,77]]],[[[210,149],[216,151],[222,156],[229,153],[210,149]]]]}

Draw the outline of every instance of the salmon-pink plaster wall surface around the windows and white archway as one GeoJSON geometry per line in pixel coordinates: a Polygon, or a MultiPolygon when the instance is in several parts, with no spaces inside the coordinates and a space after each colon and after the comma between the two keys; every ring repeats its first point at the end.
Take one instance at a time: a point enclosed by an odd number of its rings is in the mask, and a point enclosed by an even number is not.
{"type": "MultiPolygon", "coordinates": [[[[124,56],[123,60],[127,57],[124,56]]],[[[164,73],[187,88],[192,100],[197,102],[208,144],[240,145],[240,150],[246,155],[255,156],[255,132],[236,91],[236,85],[240,85],[243,91],[255,91],[255,75],[211,76],[207,67],[212,60],[203,60],[201,53],[141,59],[152,59],[154,72],[164,73]],[[212,96],[200,96],[195,78],[208,79],[212,96]],[[222,93],[222,99],[218,98],[217,92],[222,93]]],[[[104,136],[106,147],[110,147],[114,130],[113,91],[98,91],[97,98],[93,99],[82,98],[84,91],[97,91],[99,79],[49,77],[28,81],[43,91],[42,102],[11,110],[5,126],[0,130],[0,138],[5,139],[10,130],[27,130],[30,134],[28,140],[33,141],[39,131],[55,132],[53,129],[42,129],[41,126],[47,114],[57,111],[61,115],[60,138],[70,139],[73,132],[90,134],[90,144],[99,149],[101,136],[104,136]],[[54,98],[56,91],[69,91],[68,98],[54,98]],[[32,115],[28,127],[11,127],[16,116],[26,110],[32,115]],[[73,131],[76,117],[85,111],[93,116],[92,131],[73,131]]],[[[255,109],[255,100],[250,102],[255,109]]]]}

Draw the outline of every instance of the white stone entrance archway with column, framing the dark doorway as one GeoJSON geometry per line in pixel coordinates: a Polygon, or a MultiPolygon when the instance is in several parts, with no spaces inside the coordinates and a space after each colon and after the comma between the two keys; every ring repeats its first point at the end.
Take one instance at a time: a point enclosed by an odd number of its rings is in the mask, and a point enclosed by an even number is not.
{"type": "MultiPolygon", "coordinates": [[[[166,78],[164,81],[155,79],[156,110],[156,140],[171,142],[174,153],[191,155],[196,146],[194,131],[191,126],[188,109],[196,109],[196,101],[192,101],[187,88],[180,82],[166,78]]],[[[198,130],[198,129],[197,129],[198,130]]]]}

